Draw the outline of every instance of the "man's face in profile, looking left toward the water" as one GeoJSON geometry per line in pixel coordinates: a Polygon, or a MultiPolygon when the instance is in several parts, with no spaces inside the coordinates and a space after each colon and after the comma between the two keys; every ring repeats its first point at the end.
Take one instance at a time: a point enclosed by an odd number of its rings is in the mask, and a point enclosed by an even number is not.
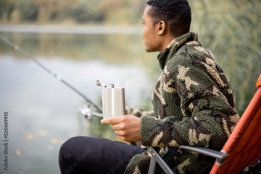
{"type": "Polygon", "coordinates": [[[147,14],[147,12],[151,9],[151,5],[147,5],[143,13],[143,44],[145,45],[145,49],[147,52],[158,51],[159,48],[159,36],[157,24],[153,25],[152,18],[147,14]]]}

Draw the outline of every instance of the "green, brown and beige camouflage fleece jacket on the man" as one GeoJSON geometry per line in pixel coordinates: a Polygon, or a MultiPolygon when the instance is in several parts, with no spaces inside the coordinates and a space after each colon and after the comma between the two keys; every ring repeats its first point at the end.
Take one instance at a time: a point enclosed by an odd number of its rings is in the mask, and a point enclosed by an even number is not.
{"type": "MultiPolygon", "coordinates": [[[[212,53],[191,32],[171,41],[158,60],[163,72],[153,91],[153,112],[141,116],[142,145],[161,147],[161,156],[179,145],[220,151],[239,116],[227,76],[212,53]]],[[[150,159],[147,149],[135,155],[125,174],[147,174],[150,159]]],[[[205,173],[214,161],[179,148],[169,166],[175,174],[205,173]]]]}

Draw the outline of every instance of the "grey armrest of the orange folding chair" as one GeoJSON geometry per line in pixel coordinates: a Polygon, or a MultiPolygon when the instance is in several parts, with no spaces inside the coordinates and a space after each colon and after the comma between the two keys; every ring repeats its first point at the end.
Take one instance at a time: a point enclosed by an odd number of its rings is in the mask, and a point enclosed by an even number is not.
{"type": "Polygon", "coordinates": [[[213,158],[217,158],[217,159],[219,159],[218,160],[219,163],[221,161],[222,161],[221,163],[223,163],[223,160],[228,157],[228,154],[226,154],[226,153],[218,152],[218,151],[208,149],[208,148],[205,148],[205,147],[193,147],[193,146],[178,146],[178,147],[182,148],[182,149],[189,150],[189,151],[198,152],[198,153],[201,153],[203,155],[207,155],[207,156],[210,156],[210,157],[213,157],[213,158]]]}

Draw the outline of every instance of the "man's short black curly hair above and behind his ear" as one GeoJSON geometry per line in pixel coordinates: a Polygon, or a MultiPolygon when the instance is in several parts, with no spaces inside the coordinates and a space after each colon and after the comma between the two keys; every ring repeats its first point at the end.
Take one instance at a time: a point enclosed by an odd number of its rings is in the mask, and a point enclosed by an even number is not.
{"type": "Polygon", "coordinates": [[[149,0],[147,4],[152,6],[148,15],[153,25],[164,21],[175,37],[189,32],[191,9],[187,0],[149,0]]]}

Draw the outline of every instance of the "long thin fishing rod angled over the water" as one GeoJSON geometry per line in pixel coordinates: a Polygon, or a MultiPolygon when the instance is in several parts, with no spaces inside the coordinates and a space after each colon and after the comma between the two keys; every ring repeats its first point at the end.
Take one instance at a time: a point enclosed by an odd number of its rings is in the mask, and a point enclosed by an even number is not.
{"type": "MultiPolygon", "coordinates": [[[[54,76],[57,80],[63,82],[64,84],[66,84],[66,81],[62,79],[62,77],[60,75],[57,75],[54,73],[54,71],[51,71],[50,69],[46,68],[43,64],[41,64],[39,61],[37,61],[35,58],[33,58],[32,56],[29,55],[29,53],[27,53],[25,50],[21,49],[19,46],[15,45],[13,42],[11,42],[9,39],[5,38],[2,34],[0,34],[0,39],[2,39],[5,43],[7,43],[8,45],[10,45],[13,49],[15,49],[16,51],[20,52],[22,55],[24,55],[25,57],[29,58],[31,61],[33,61],[34,63],[36,63],[37,65],[39,65],[41,68],[43,68],[45,71],[47,71],[49,74],[51,74],[52,76],[54,76]]],[[[76,92],[77,94],[79,94],[82,98],[84,98],[91,106],[96,107],[98,110],[102,111],[102,107],[93,103],[90,99],[88,99],[84,94],[82,94],[81,92],[79,92],[77,89],[75,89],[73,86],[71,86],[70,84],[67,84],[67,86],[69,88],[71,88],[74,92],[76,92]]],[[[85,107],[86,109],[86,107],[85,107]]],[[[86,112],[87,113],[87,109],[86,112]]],[[[89,113],[89,112],[88,112],[89,113]]],[[[83,114],[83,113],[82,113],[83,114]]],[[[99,113],[96,113],[97,116],[100,116],[99,113]]]]}

